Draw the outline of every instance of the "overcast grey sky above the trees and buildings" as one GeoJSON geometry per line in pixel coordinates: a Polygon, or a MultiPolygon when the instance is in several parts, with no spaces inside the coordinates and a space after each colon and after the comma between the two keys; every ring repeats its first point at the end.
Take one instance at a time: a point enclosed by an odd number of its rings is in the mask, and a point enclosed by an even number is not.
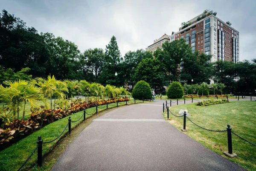
{"type": "Polygon", "coordinates": [[[256,58],[256,0],[0,0],[0,9],[38,32],[74,42],[81,52],[105,50],[114,35],[122,56],[212,9],[239,31],[240,61],[256,58]]]}

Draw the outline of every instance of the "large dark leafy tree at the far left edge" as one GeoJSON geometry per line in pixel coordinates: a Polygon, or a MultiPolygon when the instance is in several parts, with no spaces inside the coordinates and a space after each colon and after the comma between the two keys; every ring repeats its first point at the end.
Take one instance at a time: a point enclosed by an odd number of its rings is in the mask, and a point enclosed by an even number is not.
{"type": "Polygon", "coordinates": [[[46,76],[47,61],[46,45],[37,30],[3,10],[0,14],[0,64],[14,72],[29,67],[29,74],[46,76]]]}

